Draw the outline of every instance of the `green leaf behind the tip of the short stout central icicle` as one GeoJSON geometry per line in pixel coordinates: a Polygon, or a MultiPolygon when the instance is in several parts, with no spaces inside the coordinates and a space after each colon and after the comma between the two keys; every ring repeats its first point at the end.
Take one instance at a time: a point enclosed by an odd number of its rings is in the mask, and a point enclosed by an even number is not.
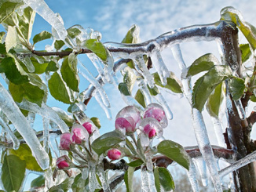
{"type": "Polygon", "coordinates": [[[167,84],[162,85],[162,82],[159,78],[158,73],[154,73],[154,81],[156,85],[159,85],[160,87],[164,87],[166,89],[170,89],[172,92],[176,93],[182,93],[182,84],[181,81],[175,76],[173,72],[170,72],[170,77],[166,78],[167,84]]]}

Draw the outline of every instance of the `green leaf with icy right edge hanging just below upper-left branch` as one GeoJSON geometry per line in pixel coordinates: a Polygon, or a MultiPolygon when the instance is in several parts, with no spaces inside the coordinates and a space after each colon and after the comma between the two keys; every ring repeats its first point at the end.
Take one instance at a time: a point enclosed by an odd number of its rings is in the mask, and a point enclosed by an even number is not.
{"type": "Polygon", "coordinates": [[[68,87],[75,92],[79,92],[79,74],[77,70],[77,58],[75,53],[71,53],[64,59],[60,72],[68,87]]]}

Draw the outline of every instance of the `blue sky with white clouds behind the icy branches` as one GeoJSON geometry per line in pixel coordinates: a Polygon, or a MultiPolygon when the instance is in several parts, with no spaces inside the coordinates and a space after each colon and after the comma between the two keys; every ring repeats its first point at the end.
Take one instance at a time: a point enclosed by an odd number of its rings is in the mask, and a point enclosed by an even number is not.
{"type": "MultiPolygon", "coordinates": [[[[213,23],[219,20],[220,10],[227,5],[232,5],[239,9],[244,19],[256,26],[256,20],[254,20],[256,16],[255,2],[239,0],[46,0],[46,3],[53,9],[54,13],[60,13],[66,28],[75,24],[80,24],[84,28],[92,27],[94,30],[101,32],[102,42],[121,42],[126,31],[133,24],[137,24],[141,28],[141,41],[144,42],[179,27],[213,23]]],[[[36,16],[33,34],[38,34],[43,30],[51,31],[51,27],[40,16],[36,16]]],[[[43,48],[39,45],[36,49],[43,48]]],[[[181,49],[187,65],[205,53],[214,53],[218,56],[215,42],[182,43],[181,49]]],[[[180,71],[170,49],[164,50],[162,54],[169,70],[177,73],[179,77],[180,71]]],[[[90,66],[90,63],[88,65],[90,66]]],[[[89,68],[93,70],[92,67],[89,68]]],[[[95,74],[95,71],[93,71],[93,74],[95,74]]],[[[85,84],[84,87],[88,84],[85,80],[82,80],[81,83],[85,84]]],[[[104,89],[111,101],[112,116],[115,119],[115,115],[122,107],[125,107],[125,104],[113,85],[105,85],[104,89]]],[[[164,96],[174,113],[174,120],[170,121],[169,126],[164,130],[164,136],[166,136],[166,139],[172,139],[184,146],[196,145],[187,100],[169,93],[164,94],[164,96]]],[[[55,103],[53,100],[49,100],[49,105],[67,108],[67,106],[55,103]]],[[[105,117],[104,111],[101,110],[95,100],[90,101],[86,114],[89,117],[96,116],[100,118],[101,132],[108,132],[114,129],[114,121],[109,121],[105,117]]],[[[210,133],[210,140],[213,144],[217,144],[210,118],[207,114],[204,114],[204,117],[210,133]]],[[[253,132],[254,139],[256,138],[255,135],[256,133],[253,132]]]]}

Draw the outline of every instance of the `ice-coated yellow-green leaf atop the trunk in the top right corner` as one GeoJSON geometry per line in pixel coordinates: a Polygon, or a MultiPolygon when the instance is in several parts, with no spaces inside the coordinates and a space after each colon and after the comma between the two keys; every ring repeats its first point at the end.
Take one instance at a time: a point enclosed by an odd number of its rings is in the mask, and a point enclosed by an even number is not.
{"type": "Polygon", "coordinates": [[[247,41],[253,49],[256,49],[256,33],[255,28],[243,20],[243,17],[235,8],[228,6],[221,9],[221,20],[229,20],[236,24],[242,31],[247,41]]]}

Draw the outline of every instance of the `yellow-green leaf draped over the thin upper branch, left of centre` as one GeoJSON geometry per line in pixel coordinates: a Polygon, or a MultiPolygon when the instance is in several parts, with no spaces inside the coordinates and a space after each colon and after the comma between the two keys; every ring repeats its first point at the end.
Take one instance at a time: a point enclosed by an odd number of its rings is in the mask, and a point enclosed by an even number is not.
{"type": "Polygon", "coordinates": [[[108,51],[97,39],[88,39],[85,42],[86,48],[95,53],[101,60],[106,61],[108,59],[108,51]]]}

